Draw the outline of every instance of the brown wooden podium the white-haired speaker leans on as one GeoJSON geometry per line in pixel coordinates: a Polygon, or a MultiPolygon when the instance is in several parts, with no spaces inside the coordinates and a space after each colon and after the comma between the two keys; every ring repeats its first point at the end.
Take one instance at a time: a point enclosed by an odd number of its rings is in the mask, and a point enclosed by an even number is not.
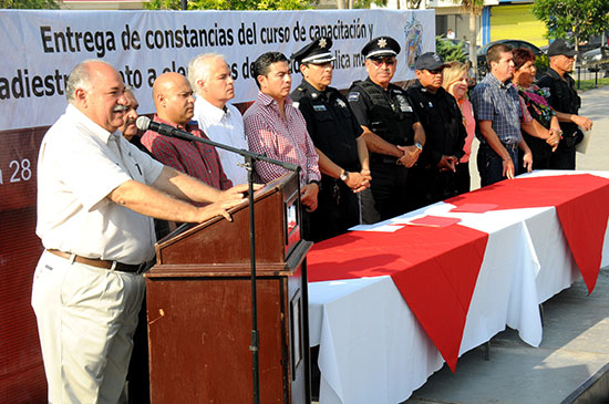
{"type": "MultiPolygon", "coordinates": [[[[309,403],[306,255],[296,174],[255,194],[260,403],[309,403]]],[[[249,211],[183,225],[146,273],[153,403],[251,403],[249,211]]]]}

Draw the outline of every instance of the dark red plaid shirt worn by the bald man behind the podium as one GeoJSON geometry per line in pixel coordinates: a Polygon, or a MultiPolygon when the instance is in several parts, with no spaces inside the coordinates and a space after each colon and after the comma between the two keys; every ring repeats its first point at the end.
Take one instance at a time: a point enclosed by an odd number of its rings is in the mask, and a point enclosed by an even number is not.
{"type": "MultiPolygon", "coordinates": [[[[208,138],[196,124],[182,126],[164,121],[156,116],[156,114],[154,115],[154,122],[161,122],[188,132],[192,135],[208,138]]],[[[214,146],[163,136],[152,131],[144,133],[142,144],[161,163],[186,173],[190,177],[197,178],[214,188],[228,189],[233,186],[230,179],[224,174],[220,158],[214,146]]]]}

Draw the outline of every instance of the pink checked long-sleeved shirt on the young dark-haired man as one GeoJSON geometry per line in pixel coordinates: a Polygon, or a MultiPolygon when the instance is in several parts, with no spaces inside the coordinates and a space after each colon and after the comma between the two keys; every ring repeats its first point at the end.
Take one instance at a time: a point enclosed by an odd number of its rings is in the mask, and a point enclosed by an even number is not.
{"type": "MultiPolygon", "coordinates": [[[[277,101],[258,92],[258,100],[244,114],[244,126],[249,149],[269,158],[299,165],[300,183],[319,180],[318,155],[307,132],[307,123],[292,101],[285,101],[286,118],[277,101]]],[[[256,176],[262,183],[280,177],[288,170],[275,164],[256,162],[256,176]]]]}

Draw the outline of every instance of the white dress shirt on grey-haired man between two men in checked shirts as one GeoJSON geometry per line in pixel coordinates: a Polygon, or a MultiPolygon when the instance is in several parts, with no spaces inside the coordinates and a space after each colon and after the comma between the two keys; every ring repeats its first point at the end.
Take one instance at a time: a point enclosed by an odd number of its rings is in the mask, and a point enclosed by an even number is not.
{"type": "MultiPolygon", "coordinates": [[[[207,100],[197,95],[195,101],[195,116],[199,128],[214,142],[235,148],[248,149],[244,133],[244,121],[239,111],[226,104],[225,108],[211,105],[207,100]]],[[[244,163],[240,155],[216,147],[223,169],[233,185],[247,183],[247,170],[237,164],[244,163]]]]}

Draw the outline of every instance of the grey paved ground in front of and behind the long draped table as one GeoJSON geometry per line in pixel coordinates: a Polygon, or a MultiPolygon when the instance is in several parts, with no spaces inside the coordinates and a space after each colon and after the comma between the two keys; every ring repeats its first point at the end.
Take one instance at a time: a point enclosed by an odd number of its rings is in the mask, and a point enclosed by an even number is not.
{"type": "MultiPolygon", "coordinates": [[[[609,87],[581,97],[581,114],[593,121],[593,131],[587,154],[577,155],[577,168],[609,170],[609,87]]],[[[477,173],[472,175],[477,188],[477,173]]],[[[484,348],[467,352],[455,374],[444,366],[405,403],[560,403],[609,362],[609,267],[590,296],[578,281],[544,303],[544,321],[539,348],[508,329],[491,341],[489,361],[484,348]]]]}

